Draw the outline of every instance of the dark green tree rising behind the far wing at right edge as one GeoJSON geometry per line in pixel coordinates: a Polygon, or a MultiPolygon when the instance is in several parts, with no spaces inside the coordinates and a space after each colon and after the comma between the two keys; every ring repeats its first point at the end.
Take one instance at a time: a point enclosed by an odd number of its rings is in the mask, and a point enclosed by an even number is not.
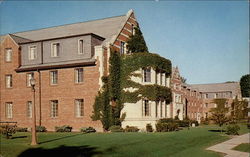
{"type": "Polygon", "coordinates": [[[241,77],[240,88],[242,97],[250,97],[250,74],[241,77]]]}

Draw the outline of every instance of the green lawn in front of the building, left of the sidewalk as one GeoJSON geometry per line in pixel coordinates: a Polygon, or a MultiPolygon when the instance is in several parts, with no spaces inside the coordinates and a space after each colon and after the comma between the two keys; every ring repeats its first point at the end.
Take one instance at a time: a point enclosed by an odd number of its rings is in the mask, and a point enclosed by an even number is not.
{"type": "MultiPolygon", "coordinates": [[[[217,157],[220,154],[205,148],[230,138],[217,128],[201,126],[167,133],[39,133],[40,144],[35,147],[29,145],[30,133],[16,133],[13,139],[1,138],[0,152],[3,157],[217,157]]],[[[246,132],[244,126],[240,133],[246,132]]]]}

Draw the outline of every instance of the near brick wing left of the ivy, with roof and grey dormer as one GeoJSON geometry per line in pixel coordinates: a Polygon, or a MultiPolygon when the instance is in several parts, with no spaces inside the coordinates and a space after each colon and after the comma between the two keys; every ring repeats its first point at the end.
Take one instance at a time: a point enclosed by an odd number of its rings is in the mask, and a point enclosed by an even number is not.
{"type": "Polygon", "coordinates": [[[108,74],[110,46],[127,53],[126,41],[137,25],[130,10],[122,16],[1,36],[0,120],[31,126],[34,78],[37,125],[101,131],[101,123],[90,116],[101,77],[108,74]]]}

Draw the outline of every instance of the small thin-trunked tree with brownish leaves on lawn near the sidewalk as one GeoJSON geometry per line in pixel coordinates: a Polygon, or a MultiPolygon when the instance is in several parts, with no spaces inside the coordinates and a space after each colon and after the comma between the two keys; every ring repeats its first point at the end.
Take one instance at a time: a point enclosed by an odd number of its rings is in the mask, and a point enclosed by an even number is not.
{"type": "Polygon", "coordinates": [[[222,127],[223,124],[229,121],[229,118],[227,117],[229,108],[225,107],[226,102],[227,99],[214,99],[213,103],[217,104],[217,107],[210,110],[210,119],[213,120],[215,124],[219,125],[219,127],[222,127]]]}

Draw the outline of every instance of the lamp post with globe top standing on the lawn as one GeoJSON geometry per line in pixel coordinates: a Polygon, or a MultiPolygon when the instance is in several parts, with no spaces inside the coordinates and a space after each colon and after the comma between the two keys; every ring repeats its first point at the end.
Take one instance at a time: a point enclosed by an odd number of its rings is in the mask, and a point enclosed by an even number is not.
{"type": "Polygon", "coordinates": [[[30,80],[30,85],[32,87],[33,92],[33,106],[32,106],[32,140],[31,145],[37,145],[37,139],[36,139],[36,104],[35,104],[35,84],[36,80],[32,78],[30,80]]]}

